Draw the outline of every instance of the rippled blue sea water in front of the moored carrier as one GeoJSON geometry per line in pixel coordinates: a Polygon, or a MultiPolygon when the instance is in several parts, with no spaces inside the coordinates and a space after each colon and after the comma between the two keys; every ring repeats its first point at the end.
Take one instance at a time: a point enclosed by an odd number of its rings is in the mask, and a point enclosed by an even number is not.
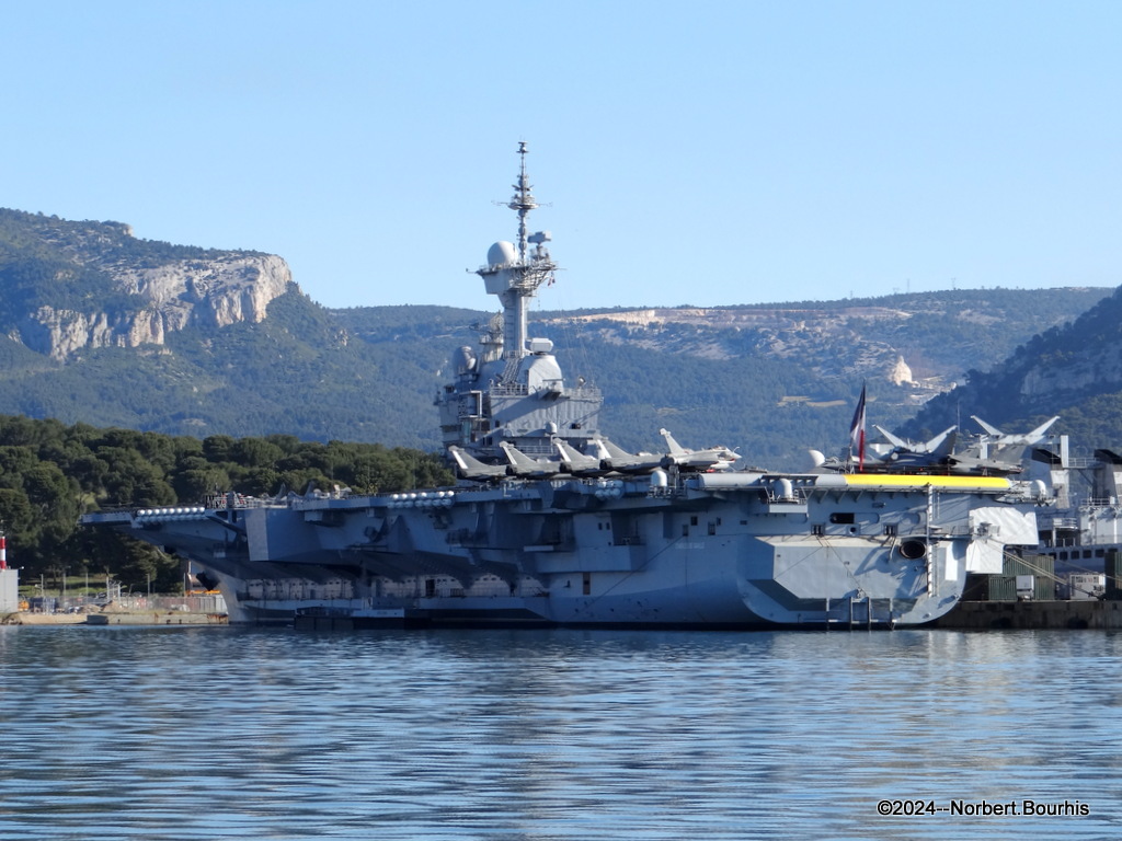
{"type": "Polygon", "coordinates": [[[0,627],[0,838],[1118,839],[1120,663],[1096,631],[0,627]]]}

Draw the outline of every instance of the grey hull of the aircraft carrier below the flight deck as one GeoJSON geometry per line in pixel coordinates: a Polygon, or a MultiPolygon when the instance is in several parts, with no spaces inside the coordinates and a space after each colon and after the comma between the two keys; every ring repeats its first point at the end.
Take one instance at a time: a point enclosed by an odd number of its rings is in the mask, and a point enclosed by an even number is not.
{"type": "MultiPolygon", "coordinates": [[[[994,478],[725,472],[86,515],[192,562],[232,622],[894,627],[1034,544],[994,478]]],[[[1026,498],[1022,501],[1028,502],[1026,498]]]]}

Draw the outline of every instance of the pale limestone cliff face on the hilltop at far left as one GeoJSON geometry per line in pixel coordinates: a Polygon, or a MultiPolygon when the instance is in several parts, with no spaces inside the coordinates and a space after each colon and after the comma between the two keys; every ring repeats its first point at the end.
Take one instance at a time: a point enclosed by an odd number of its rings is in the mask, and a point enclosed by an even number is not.
{"type": "Polygon", "coordinates": [[[168,333],[190,325],[229,326],[260,322],[272,301],[293,283],[288,265],[274,255],[227,253],[153,268],[103,266],[135,306],[77,312],[40,306],[19,326],[31,350],[65,361],[83,350],[162,345],[168,333]]]}

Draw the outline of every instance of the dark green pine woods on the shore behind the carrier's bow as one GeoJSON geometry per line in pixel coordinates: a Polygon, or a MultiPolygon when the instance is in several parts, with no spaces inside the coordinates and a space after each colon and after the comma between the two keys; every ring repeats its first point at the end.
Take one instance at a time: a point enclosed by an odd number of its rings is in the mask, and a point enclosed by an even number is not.
{"type": "Polygon", "coordinates": [[[364,493],[452,481],[435,455],[380,444],[291,435],[199,440],[0,415],[0,526],[9,561],[25,579],[65,566],[70,574],[112,572],[126,584],[150,574],[159,589],[178,585],[175,558],[79,529],[86,510],[195,502],[224,490],[260,497],[338,484],[364,493]]]}

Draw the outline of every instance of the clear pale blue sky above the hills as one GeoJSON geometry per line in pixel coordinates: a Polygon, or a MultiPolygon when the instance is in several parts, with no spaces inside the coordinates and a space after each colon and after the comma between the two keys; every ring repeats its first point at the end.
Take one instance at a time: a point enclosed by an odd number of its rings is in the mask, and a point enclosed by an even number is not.
{"type": "Polygon", "coordinates": [[[6,3],[0,206],[288,260],[332,307],[1122,284],[1122,3],[6,3]]]}

